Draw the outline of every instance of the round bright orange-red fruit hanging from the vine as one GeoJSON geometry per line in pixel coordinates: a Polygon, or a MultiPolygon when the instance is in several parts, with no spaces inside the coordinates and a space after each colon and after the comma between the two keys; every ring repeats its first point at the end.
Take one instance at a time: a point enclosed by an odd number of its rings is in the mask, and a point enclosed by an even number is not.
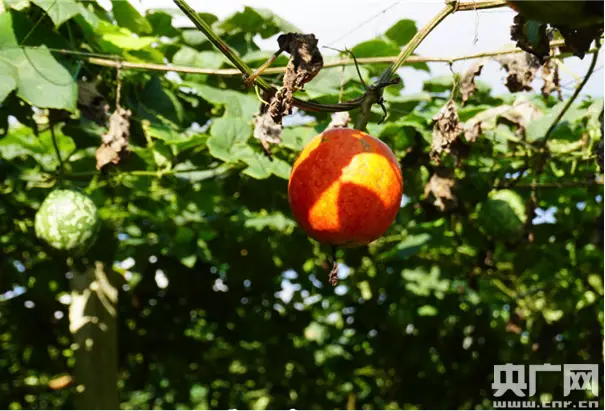
{"type": "Polygon", "coordinates": [[[307,234],[346,247],[384,234],[402,194],[401,168],[391,149],[349,128],[313,137],[294,162],[288,182],[292,214],[307,234]]]}

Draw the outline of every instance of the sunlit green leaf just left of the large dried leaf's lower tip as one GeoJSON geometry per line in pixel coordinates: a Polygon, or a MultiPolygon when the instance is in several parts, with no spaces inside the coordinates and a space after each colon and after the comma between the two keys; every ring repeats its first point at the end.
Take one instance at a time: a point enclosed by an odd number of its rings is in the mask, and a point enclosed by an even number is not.
{"type": "Polygon", "coordinates": [[[250,138],[252,129],[250,123],[240,117],[225,116],[214,120],[210,127],[208,149],[213,157],[223,161],[238,160],[238,154],[244,150],[246,141],[250,138]]]}

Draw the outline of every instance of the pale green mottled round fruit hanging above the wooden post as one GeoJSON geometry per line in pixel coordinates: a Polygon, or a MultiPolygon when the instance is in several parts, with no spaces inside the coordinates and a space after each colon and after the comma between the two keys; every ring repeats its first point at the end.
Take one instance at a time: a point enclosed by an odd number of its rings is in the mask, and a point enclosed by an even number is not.
{"type": "Polygon", "coordinates": [[[84,193],[56,189],[42,202],[34,226],[36,236],[51,247],[81,255],[95,242],[100,220],[97,207],[84,193]]]}

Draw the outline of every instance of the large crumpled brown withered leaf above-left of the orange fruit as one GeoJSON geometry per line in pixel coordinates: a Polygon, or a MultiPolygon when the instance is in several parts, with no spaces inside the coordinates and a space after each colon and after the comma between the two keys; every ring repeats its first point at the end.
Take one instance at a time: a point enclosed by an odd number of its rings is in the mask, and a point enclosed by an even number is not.
{"type": "Polygon", "coordinates": [[[282,117],[291,113],[294,92],[303,89],[305,83],[319,73],[323,67],[323,57],[314,34],[282,34],[277,42],[280,50],[290,54],[283,87],[275,93],[269,105],[269,114],[273,121],[281,124],[282,117]]]}

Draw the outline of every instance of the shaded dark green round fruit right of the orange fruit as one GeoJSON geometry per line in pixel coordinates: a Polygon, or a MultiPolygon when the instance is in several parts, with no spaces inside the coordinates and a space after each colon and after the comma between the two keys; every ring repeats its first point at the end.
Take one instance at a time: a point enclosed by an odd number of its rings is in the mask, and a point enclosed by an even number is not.
{"type": "Polygon", "coordinates": [[[511,190],[493,192],[479,205],[479,225],[486,234],[504,241],[514,241],[523,234],[527,221],[525,203],[511,190]]]}

